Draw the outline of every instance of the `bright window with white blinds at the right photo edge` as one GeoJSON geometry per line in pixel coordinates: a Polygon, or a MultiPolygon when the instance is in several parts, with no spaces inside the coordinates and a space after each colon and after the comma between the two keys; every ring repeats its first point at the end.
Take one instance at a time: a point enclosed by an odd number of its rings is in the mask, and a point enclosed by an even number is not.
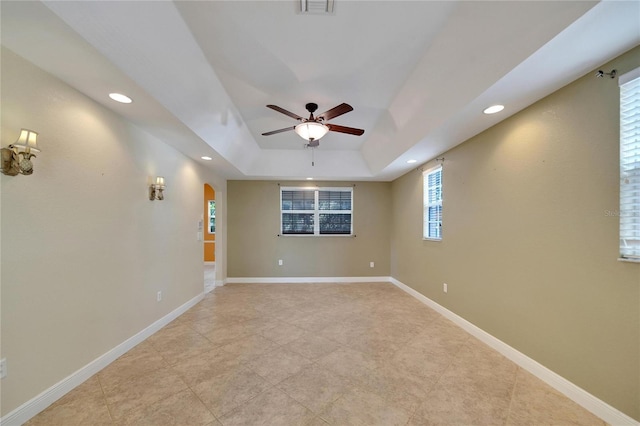
{"type": "Polygon", "coordinates": [[[640,262],[640,68],[619,84],[620,258],[640,262]]]}

